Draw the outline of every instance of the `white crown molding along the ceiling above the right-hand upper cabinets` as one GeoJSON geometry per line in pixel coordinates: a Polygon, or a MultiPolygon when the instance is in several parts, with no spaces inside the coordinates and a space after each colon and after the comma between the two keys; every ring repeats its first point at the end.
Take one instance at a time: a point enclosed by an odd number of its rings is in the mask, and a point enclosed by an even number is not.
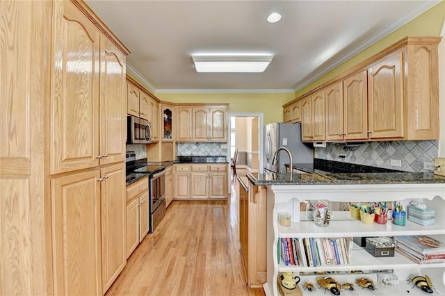
{"type": "Polygon", "coordinates": [[[305,88],[310,83],[313,83],[317,79],[321,78],[323,75],[327,74],[328,72],[332,71],[339,65],[346,62],[346,60],[349,60],[350,58],[353,58],[353,56],[359,54],[360,52],[364,51],[364,49],[367,49],[368,47],[371,47],[371,45],[375,44],[376,42],[382,40],[383,38],[387,37],[387,35],[393,33],[398,28],[401,28],[401,26],[407,24],[408,22],[412,21],[412,19],[418,17],[419,15],[426,12],[426,10],[432,8],[432,6],[437,5],[442,0],[437,1],[426,1],[421,3],[417,7],[416,10],[412,11],[412,13],[409,13],[407,15],[404,15],[400,19],[397,19],[396,21],[389,24],[389,26],[386,26],[385,28],[382,28],[380,31],[374,33],[370,38],[364,40],[363,42],[359,43],[356,47],[348,51],[348,53],[344,54],[340,58],[337,58],[334,60],[334,62],[330,63],[326,67],[323,67],[323,69],[320,69],[320,71],[312,74],[311,76],[307,77],[306,79],[303,79],[298,83],[294,91],[298,92],[298,90],[301,90],[302,88],[305,88]]]}

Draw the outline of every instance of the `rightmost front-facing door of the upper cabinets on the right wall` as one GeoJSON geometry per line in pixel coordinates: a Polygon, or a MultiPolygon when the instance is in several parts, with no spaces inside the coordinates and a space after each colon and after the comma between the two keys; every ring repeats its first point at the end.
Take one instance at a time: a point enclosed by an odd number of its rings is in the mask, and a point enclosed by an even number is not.
{"type": "Polygon", "coordinates": [[[403,52],[368,69],[369,138],[403,136],[403,52]]]}

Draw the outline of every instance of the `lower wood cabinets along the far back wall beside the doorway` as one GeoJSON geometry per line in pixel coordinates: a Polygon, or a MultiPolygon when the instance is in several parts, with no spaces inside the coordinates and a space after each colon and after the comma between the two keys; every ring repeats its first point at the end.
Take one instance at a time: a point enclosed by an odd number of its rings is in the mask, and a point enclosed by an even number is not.
{"type": "Polygon", "coordinates": [[[175,165],[175,199],[227,199],[227,164],[175,165]]]}

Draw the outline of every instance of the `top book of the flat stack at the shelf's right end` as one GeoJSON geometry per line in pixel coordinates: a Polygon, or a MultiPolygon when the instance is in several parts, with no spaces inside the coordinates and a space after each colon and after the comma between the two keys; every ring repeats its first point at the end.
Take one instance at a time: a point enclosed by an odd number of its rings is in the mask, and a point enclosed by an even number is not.
{"type": "Polygon", "coordinates": [[[396,242],[413,249],[420,254],[445,253],[444,242],[439,242],[430,236],[396,236],[396,242]]]}

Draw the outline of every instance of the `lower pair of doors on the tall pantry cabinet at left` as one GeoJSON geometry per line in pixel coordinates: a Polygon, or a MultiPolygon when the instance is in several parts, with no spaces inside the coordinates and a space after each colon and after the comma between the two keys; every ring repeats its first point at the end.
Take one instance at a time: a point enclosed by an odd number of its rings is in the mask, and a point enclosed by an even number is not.
{"type": "Polygon", "coordinates": [[[59,295],[103,295],[125,252],[124,164],[51,179],[54,287],[59,295]]]}

